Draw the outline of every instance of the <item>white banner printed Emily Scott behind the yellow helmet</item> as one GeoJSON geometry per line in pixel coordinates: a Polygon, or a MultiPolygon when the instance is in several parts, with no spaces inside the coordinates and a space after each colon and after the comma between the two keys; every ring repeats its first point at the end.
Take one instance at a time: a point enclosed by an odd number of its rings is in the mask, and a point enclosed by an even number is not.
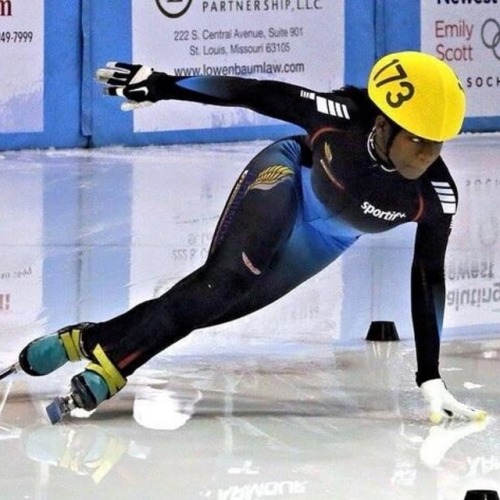
{"type": "Polygon", "coordinates": [[[488,0],[421,1],[421,48],[462,80],[467,116],[500,115],[500,7],[488,0]]]}

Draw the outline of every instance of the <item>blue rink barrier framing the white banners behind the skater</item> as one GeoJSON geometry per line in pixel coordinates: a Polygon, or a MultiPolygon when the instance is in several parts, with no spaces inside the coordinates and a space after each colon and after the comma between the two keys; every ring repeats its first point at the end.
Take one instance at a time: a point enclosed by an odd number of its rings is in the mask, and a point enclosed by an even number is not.
{"type": "MultiPolygon", "coordinates": [[[[301,1],[303,5],[312,5],[315,1],[321,4],[326,0],[301,1]]],[[[44,0],[43,127],[37,132],[0,130],[1,149],[274,139],[301,131],[298,127],[278,123],[266,126],[134,132],[134,113],[124,113],[115,99],[103,98],[101,89],[94,80],[95,70],[107,61],[133,59],[132,2],[133,0],[79,0],[61,6],[56,0],[44,0]]],[[[14,3],[11,5],[16,6],[14,3]]],[[[363,86],[373,62],[388,51],[425,50],[427,41],[421,35],[422,23],[425,22],[421,19],[423,9],[439,8],[450,19],[452,15],[460,19],[466,7],[444,0],[425,4],[421,0],[406,0],[404,8],[401,5],[401,0],[344,2],[343,73],[346,84],[363,86]]],[[[482,34],[482,28],[485,29],[484,23],[489,19],[488,16],[495,20],[495,16],[491,14],[493,8],[494,5],[482,3],[474,4],[474,10],[471,10],[477,19],[474,49],[477,49],[476,53],[481,57],[487,58],[486,61],[493,61],[495,48],[489,47],[488,40],[483,40],[481,45],[479,34],[482,34]],[[482,52],[479,48],[482,48],[482,52]]],[[[463,22],[468,22],[467,17],[464,17],[463,22]]],[[[0,17],[0,21],[2,19],[7,18],[0,17]]],[[[460,28],[460,25],[457,26],[460,28]]],[[[22,27],[22,22],[19,27],[22,27]]],[[[485,33],[489,32],[486,30],[485,33]]],[[[174,48],[166,47],[165,50],[174,48]]],[[[290,81],[292,80],[293,75],[290,75],[290,81]]],[[[475,88],[476,95],[481,95],[481,85],[484,86],[485,93],[491,92],[489,87],[495,83],[500,88],[500,73],[494,73],[493,70],[484,75],[476,72],[465,76],[465,80],[475,88]]],[[[311,82],[310,87],[317,88],[317,85],[311,82]]],[[[497,99],[489,101],[491,106],[497,106],[497,99]]],[[[488,107],[486,103],[483,108],[491,109],[491,106],[488,107]]],[[[495,108],[493,112],[496,113],[495,108]]],[[[476,116],[469,113],[463,131],[500,131],[500,112],[498,116],[476,116]]]]}

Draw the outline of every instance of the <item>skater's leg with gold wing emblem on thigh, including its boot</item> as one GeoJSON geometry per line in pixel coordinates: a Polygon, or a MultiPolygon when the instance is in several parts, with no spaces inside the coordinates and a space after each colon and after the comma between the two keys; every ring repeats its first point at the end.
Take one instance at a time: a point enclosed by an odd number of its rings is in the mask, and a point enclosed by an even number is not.
{"type": "Polygon", "coordinates": [[[294,140],[264,150],[233,191],[206,264],[162,297],[85,332],[83,350],[94,363],[72,380],[77,406],[95,407],[152,356],[215,321],[255,288],[294,226],[300,160],[294,140]]]}

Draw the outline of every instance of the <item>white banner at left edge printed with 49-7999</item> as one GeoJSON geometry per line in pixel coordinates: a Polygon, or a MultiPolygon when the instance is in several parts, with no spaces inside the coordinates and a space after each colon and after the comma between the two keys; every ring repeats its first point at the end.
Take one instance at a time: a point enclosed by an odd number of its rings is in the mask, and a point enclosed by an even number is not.
{"type": "Polygon", "coordinates": [[[0,133],[43,131],[43,1],[0,0],[0,54],[0,133]]]}

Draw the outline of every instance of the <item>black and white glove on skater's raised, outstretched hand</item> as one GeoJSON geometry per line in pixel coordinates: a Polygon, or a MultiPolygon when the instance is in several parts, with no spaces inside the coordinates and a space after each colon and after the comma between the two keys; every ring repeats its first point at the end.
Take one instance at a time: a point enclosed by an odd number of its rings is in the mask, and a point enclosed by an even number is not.
{"type": "Polygon", "coordinates": [[[96,71],[96,79],[104,85],[104,94],[127,99],[121,105],[123,111],[150,106],[163,98],[162,80],[168,78],[149,66],[124,62],[108,62],[96,71]]]}

